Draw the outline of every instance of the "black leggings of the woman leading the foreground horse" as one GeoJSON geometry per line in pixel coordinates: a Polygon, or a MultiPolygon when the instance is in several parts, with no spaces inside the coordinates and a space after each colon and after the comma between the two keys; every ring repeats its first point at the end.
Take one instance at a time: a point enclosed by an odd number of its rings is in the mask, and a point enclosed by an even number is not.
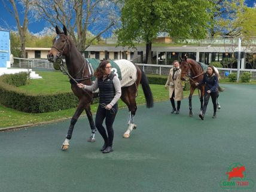
{"type": "Polygon", "coordinates": [[[95,117],[95,126],[97,127],[97,130],[99,131],[100,135],[104,139],[106,146],[111,146],[111,147],[112,147],[113,138],[114,138],[114,130],[112,125],[115,120],[115,115],[117,114],[117,109],[118,109],[117,104],[112,106],[112,109],[108,110],[108,109],[102,108],[102,106],[99,105],[97,107],[97,113],[95,117]],[[112,109],[114,109],[114,112],[112,111],[112,109]],[[106,130],[102,126],[103,120],[105,118],[106,118],[105,120],[106,130]],[[108,132],[108,135],[106,135],[106,131],[108,132]]]}

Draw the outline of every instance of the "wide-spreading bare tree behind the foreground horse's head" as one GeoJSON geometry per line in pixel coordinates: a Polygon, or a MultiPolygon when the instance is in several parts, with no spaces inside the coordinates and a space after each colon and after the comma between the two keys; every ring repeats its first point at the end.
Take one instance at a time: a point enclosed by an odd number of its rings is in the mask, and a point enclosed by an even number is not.
{"type": "Polygon", "coordinates": [[[118,21],[118,4],[111,0],[34,0],[33,11],[51,26],[64,24],[79,51],[86,50],[118,21]],[[87,39],[88,31],[94,38],[87,39]],[[86,45],[87,44],[87,45],[86,45]]]}

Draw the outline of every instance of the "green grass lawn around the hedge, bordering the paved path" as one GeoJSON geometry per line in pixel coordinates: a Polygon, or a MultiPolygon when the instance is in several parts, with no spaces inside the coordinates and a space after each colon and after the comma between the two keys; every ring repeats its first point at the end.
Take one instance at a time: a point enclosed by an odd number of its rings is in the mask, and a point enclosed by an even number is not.
{"type": "MultiPolygon", "coordinates": [[[[38,71],[42,79],[31,80],[27,86],[19,87],[18,89],[25,90],[26,92],[32,93],[56,93],[56,92],[71,92],[69,79],[66,75],[61,72],[45,72],[38,71]]],[[[151,85],[153,92],[154,101],[161,101],[169,99],[169,93],[164,89],[163,85],[151,85]]],[[[187,96],[188,92],[184,92],[187,96]]],[[[138,97],[136,98],[138,105],[145,103],[144,94],[142,88],[139,87],[138,97]]],[[[126,105],[120,100],[118,103],[120,108],[126,107],[126,105]]],[[[92,112],[96,112],[97,104],[91,105],[92,112]]],[[[38,124],[47,121],[61,120],[63,118],[71,118],[75,112],[75,108],[46,112],[41,114],[31,114],[26,112],[16,111],[12,108],[7,108],[0,105],[0,128],[12,127],[12,126],[23,126],[27,124],[38,124]]],[[[83,113],[85,115],[85,112],[83,113]]]]}

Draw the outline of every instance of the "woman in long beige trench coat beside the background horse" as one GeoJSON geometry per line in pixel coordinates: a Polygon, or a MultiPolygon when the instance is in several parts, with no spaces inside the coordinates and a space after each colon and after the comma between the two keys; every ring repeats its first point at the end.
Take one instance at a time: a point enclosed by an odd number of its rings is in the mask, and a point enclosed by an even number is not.
{"type": "Polygon", "coordinates": [[[173,68],[170,69],[169,76],[167,78],[165,88],[169,87],[169,97],[172,103],[172,114],[176,112],[179,114],[179,108],[181,107],[181,100],[183,99],[183,87],[181,81],[181,69],[179,69],[178,60],[173,61],[173,68]],[[175,102],[177,101],[177,109],[175,107],[175,102]]]}

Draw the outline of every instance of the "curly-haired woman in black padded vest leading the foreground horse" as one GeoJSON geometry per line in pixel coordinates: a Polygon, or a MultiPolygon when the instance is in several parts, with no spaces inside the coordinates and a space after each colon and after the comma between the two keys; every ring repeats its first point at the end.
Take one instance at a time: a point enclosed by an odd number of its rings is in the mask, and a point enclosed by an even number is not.
{"type": "Polygon", "coordinates": [[[77,84],[77,86],[91,92],[99,88],[99,106],[96,112],[95,126],[104,140],[104,145],[100,151],[102,153],[110,153],[113,151],[114,130],[112,125],[117,114],[117,101],[121,96],[121,84],[117,76],[111,72],[111,64],[108,60],[100,62],[94,75],[96,80],[92,86],[86,86],[81,83],[77,84]],[[102,125],[104,119],[106,130],[102,125]]]}

